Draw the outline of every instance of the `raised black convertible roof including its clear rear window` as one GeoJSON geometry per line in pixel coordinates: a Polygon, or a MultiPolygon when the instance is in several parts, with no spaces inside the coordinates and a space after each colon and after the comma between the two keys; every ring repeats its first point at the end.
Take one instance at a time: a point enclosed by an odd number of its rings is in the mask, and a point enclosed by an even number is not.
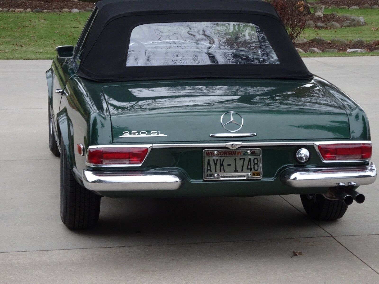
{"type": "Polygon", "coordinates": [[[313,78],[276,10],[261,0],[101,0],[95,6],[81,78],[313,78]]]}

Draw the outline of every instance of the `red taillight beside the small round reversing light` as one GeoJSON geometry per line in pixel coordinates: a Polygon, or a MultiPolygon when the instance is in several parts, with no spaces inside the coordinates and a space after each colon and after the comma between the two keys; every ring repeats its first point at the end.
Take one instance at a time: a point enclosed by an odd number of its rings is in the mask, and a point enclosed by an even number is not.
{"type": "Polygon", "coordinates": [[[368,160],[372,147],[369,143],[324,144],[318,145],[318,150],[325,161],[368,160]]]}

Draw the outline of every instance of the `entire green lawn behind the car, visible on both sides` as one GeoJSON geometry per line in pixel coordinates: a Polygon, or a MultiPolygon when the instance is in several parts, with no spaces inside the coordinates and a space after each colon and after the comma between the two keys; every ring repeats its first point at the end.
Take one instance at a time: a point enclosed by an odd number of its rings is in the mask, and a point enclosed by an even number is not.
{"type": "MultiPolygon", "coordinates": [[[[341,37],[349,41],[361,38],[367,42],[379,40],[379,29],[371,30],[372,27],[379,27],[379,10],[325,9],[324,11],[325,14],[332,12],[363,16],[367,25],[336,30],[306,29],[300,37],[312,39],[321,36],[327,40],[341,37]]],[[[75,45],[89,14],[89,12],[61,14],[0,12],[0,59],[52,59],[55,56],[56,46],[75,45]]],[[[379,55],[379,53],[302,54],[304,57],[358,55],[379,55]]]]}

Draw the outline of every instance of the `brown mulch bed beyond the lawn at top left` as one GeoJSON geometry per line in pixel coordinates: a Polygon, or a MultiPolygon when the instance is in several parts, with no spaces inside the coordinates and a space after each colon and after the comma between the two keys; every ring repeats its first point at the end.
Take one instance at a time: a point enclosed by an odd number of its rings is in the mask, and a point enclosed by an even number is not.
{"type": "Polygon", "coordinates": [[[93,8],[94,5],[92,3],[88,2],[81,2],[81,1],[58,1],[58,0],[50,0],[50,1],[28,1],[28,0],[0,0],[0,8],[7,8],[7,9],[42,9],[42,10],[52,10],[52,9],[85,9],[85,8],[93,8]]]}

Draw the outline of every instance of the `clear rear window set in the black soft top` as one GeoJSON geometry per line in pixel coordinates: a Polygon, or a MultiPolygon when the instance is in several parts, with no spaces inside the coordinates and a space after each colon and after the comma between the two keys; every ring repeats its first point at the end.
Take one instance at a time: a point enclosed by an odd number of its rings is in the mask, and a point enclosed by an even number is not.
{"type": "Polygon", "coordinates": [[[241,22],[149,23],[134,28],[126,66],[279,64],[260,27],[241,22]]]}

